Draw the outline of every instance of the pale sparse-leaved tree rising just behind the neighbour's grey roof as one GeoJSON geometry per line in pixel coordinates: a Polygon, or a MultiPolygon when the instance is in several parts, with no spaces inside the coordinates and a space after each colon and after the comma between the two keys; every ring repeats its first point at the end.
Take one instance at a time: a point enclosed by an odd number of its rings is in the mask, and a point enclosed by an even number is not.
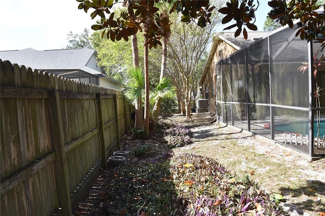
{"type": "Polygon", "coordinates": [[[89,48],[92,49],[90,42],[90,31],[85,28],[81,34],[73,33],[69,31],[68,33],[68,42],[69,45],[66,49],[75,49],[75,48],[89,48]]]}

